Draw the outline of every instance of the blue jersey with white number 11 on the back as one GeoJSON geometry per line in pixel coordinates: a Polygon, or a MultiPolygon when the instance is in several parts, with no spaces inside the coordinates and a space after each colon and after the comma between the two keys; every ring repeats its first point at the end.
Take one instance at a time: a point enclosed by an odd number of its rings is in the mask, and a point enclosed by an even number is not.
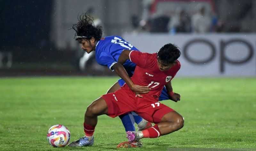
{"type": "MultiPolygon", "coordinates": [[[[118,58],[124,49],[139,51],[120,36],[108,36],[101,38],[101,40],[96,44],[96,61],[98,64],[108,66],[111,71],[114,71],[112,66],[117,63],[118,58]]],[[[132,63],[130,60],[126,60],[123,66],[131,77],[136,64],[132,63]]]]}

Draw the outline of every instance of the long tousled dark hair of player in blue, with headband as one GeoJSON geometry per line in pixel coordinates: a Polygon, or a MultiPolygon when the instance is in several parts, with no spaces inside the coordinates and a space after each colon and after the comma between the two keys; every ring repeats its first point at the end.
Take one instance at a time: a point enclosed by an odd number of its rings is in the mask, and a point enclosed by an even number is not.
{"type": "Polygon", "coordinates": [[[78,22],[72,28],[76,31],[75,39],[81,42],[83,39],[90,40],[92,37],[99,41],[102,36],[102,26],[94,26],[93,17],[87,12],[77,17],[78,22]],[[84,36],[77,38],[76,36],[84,36]]]}

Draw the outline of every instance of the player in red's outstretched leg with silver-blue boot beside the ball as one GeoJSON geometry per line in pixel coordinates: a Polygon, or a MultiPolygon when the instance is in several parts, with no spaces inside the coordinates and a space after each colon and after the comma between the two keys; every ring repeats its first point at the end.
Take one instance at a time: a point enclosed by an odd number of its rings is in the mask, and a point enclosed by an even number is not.
{"type": "Polygon", "coordinates": [[[96,101],[92,102],[87,107],[87,110],[84,115],[84,133],[85,136],[81,137],[79,140],[71,142],[68,144],[69,147],[82,147],[82,146],[91,146],[94,143],[93,133],[95,126],[97,125],[97,117],[102,114],[108,113],[107,103],[103,98],[99,98],[96,101]]]}

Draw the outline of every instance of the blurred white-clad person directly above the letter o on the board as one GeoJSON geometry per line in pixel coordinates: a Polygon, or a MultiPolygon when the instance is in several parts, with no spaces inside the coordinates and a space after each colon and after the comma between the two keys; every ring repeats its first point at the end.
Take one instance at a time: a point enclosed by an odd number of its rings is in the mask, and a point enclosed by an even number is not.
{"type": "Polygon", "coordinates": [[[212,18],[204,5],[197,5],[197,13],[192,16],[192,30],[195,33],[208,33],[211,31],[212,18]]]}

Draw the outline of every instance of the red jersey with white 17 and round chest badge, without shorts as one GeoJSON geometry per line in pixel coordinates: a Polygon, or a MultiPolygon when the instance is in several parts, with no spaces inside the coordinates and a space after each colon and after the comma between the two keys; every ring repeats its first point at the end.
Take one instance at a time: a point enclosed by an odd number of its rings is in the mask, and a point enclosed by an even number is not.
{"type": "MultiPolygon", "coordinates": [[[[157,54],[149,54],[140,51],[131,51],[130,60],[137,66],[132,76],[132,81],[136,85],[148,86],[151,88],[148,94],[142,94],[143,97],[158,97],[163,90],[164,85],[172,80],[176,73],[180,70],[180,62],[172,66],[168,71],[161,71],[157,64],[157,54]]],[[[125,89],[129,89],[124,85],[125,89]]]]}

